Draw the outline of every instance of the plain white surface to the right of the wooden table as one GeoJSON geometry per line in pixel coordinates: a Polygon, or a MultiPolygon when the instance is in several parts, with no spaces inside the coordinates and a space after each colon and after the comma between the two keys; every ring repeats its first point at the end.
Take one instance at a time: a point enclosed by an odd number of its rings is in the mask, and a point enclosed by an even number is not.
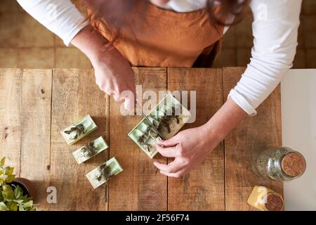
{"type": "Polygon", "coordinates": [[[302,153],[305,174],[284,184],[285,210],[316,210],[316,70],[291,70],[281,82],[282,139],[302,153]]]}

